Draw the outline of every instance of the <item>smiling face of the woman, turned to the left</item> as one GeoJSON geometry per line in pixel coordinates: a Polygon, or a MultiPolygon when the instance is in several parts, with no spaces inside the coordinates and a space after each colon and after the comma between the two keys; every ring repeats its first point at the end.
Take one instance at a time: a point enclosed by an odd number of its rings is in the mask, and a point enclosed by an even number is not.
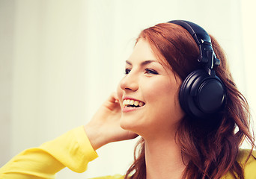
{"type": "Polygon", "coordinates": [[[144,137],[175,132],[184,115],[178,100],[180,78],[157,60],[145,40],[138,40],[125,72],[118,87],[121,127],[144,137]]]}

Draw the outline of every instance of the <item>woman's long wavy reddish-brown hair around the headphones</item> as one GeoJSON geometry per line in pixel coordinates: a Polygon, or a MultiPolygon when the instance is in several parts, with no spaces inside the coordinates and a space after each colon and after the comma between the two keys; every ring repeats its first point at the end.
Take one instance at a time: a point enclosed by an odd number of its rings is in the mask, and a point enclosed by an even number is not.
{"type": "MultiPolygon", "coordinates": [[[[225,107],[215,119],[207,122],[192,120],[189,116],[181,119],[175,139],[177,145],[180,145],[182,156],[189,158],[183,178],[217,179],[230,172],[234,178],[244,179],[243,167],[236,157],[245,139],[252,145],[252,150],[255,148],[255,138],[249,125],[249,105],[237,90],[224,51],[216,39],[210,37],[216,57],[221,61],[221,64],[214,68],[216,75],[225,84],[227,99],[225,107]]],[[[200,68],[197,61],[198,45],[180,25],[155,25],[141,31],[137,42],[140,39],[147,40],[158,60],[170,66],[174,74],[182,80],[190,72],[200,68]]],[[[134,162],[129,167],[125,179],[145,179],[143,138],[138,141],[134,155],[134,162]]]]}

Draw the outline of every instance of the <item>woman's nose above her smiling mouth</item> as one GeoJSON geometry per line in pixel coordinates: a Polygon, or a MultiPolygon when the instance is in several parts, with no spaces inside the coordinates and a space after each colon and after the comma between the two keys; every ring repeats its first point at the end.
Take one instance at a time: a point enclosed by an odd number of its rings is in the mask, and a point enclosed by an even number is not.
{"type": "Polygon", "coordinates": [[[122,90],[127,92],[137,91],[138,90],[138,76],[129,72],[121,81],[120,87],[122,90]]]}

